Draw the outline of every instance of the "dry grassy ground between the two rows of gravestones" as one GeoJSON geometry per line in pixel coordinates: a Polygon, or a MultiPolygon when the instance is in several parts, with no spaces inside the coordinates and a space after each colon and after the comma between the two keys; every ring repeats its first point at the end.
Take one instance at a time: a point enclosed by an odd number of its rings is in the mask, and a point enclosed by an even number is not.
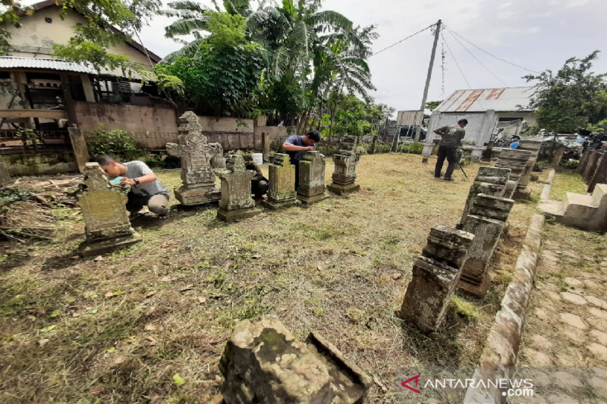
{"type": "MultiPolygon", "coordinates": [[[[135,220],[144,242],[103,259],[77,256],[84,224],[56,211],[52,241],[5,245],[1,256],[0,401],[208,402],[232,326],[260,314],[299,339],[327,337],[375,378],[369,403],[393,401],[399,366],[475,365],[536,201],[510,216],[492,292],[457,297],[443,329],[425,336],[395,311],[430,228],[458,222],[472,184],[461,172],[433,180],[432,163],[363,156],[358,193],[237,224],[215,220],[215,207],[175,207],[166,220],[135,220]]],[[[470,178],[478,167],[466,167],[470,178]]],[[[332,171],[328,161],[327,180],[332,171]]],[[[178,171],[158,174],[169,188],[180,182],[178,171]]]]}

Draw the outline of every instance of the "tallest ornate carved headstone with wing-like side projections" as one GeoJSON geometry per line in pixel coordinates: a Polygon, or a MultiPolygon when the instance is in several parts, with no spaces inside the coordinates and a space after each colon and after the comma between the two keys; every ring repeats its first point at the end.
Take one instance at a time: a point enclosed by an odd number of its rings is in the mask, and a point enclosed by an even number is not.
{"type": "Polygon", "coordinates": [[[215,187],[215,173],[212,170],[213,157],[220,152],[216,144],[207,143],[202,134],[198,116],[186,112],[179,118],[179,144],[169,143],[166,150],[181,159],[181,181],[183,185],[175,190],[175,197],[183,205],[202,205],[221,198],[221,191],[215,187]]]}

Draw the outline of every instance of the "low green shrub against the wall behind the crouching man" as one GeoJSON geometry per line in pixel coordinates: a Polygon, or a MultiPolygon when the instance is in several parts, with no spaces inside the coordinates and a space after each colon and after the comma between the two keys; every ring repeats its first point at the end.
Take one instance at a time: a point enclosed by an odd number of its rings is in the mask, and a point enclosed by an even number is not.
{"type": "Polygon", "coordinates": [[[97,129],[89,131],[86,137],[90,156],[107,154],[130,161],[143,154],[143,150],[137,147],[135,139],[126,130],[106,130],[103,123],[100,123],[97,129]]]}

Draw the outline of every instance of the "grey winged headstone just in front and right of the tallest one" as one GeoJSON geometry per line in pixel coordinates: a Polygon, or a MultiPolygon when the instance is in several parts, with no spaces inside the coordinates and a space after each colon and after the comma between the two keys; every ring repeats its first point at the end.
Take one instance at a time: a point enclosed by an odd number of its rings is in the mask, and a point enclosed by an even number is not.
{"type": "Polygon", "coordinates": [[[226,170],[217,170],[222,180],[222,199],[219,201],[217,219],[232,222],[261,213],[251,198],[251,179],[255,174],[255,171],[246,170],[245,159],[237,154],[229,156],[226,170]]]}

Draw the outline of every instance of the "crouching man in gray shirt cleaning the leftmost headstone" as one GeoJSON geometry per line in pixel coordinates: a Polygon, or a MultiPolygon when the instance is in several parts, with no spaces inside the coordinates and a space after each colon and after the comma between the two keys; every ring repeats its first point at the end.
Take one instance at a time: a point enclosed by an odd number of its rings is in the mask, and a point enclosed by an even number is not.
{"type": "Polygon", "coordinates": [[[104,155],[93,156],[90,161],[98,163],[110,181],[122,177],[120,184],[131,185],[126,203],[126,210],[131,212],[131,218],[137,216],[146,205],[152,213],[160,217],[169,213],[169,190],[143,161],[121,164],[104,155]]]}

